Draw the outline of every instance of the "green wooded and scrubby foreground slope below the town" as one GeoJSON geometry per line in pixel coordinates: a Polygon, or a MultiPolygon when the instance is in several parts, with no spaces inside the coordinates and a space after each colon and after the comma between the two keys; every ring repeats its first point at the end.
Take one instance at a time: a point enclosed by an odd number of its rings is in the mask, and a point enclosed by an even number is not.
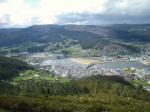
{"type": "MultiPolygon", "coordinates": [[[[15,71],[35,72],[28,70],[27,65],[25,69],[19,68],[24,63],[21,64],[18,60],[4,57],[1,59],[5,60],[1,61],[3,62],[0,64],[1,68],[11,67],[10,63],[5,64],[9,60],[15,65],[15,71]]],[[[118,76],[93,75],[70,82],[37,81],[32,78],[20,80],[14,85],[9,81],[18,72],[12,75],[12,72],[8,71],[10,75],[7,77],[2,73],[0,73],[0,108],[15,112],[150,111],[150,93],[142,86],[135,87],[118,76]]]]}

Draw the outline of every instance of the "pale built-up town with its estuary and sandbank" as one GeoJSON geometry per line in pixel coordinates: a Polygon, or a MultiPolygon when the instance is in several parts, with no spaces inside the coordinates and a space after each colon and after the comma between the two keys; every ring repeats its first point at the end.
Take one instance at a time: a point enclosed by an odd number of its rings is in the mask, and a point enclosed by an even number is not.
{"type": "MultiPolygon", "coordinates": [[[[147,58],[143,58],[143,55],[141,55],[141,57],[133,57],[129,55],[120,57],[102,56],[101,58],[84,57],[81,61],[81,57],[66,58],[63,54],[54,54],[50,52],[24,52],[20,53],[19,58],[30,65],[48,71],[50,76],[54,77],[57,81],[59,81],[59,78],[61,77],[78,80],[86,76],[100,74],[107,76],[117,75],[128,81],[141,80],[146,82],[147,85],[150,83],[150,67],[145,65],[145,62],[149,60],[149,57],[147,56],[147,58]],[[115,67],[114,63],[117,63],[117,65],[118,63],[121,65],[125,64],[125,66],[119,65],[119,67],[115,67]],[[111,65],[114,68],[101,67],[103,64],[111,65]]],[[[150,86],[143,87],[150,90],[150,86]]]]}

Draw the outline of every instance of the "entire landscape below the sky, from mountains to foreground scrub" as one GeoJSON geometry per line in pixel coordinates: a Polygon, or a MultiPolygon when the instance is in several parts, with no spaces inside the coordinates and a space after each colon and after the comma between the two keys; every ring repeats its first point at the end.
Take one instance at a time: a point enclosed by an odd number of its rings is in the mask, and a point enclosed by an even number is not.
{"type": "Polygon", "coordinates": [[[149,26],[0,29],[0,109],[150,111],[149,26]]]}

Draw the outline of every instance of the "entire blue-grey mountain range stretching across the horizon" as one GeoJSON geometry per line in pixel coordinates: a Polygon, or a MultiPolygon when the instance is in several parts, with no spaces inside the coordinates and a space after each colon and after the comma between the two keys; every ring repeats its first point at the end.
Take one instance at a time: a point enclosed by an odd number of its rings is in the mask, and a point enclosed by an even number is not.
{"type": "Polygon", "coordinates": [[[89,42],[101,38],[117,38],[126,41],[150,41],[150,25],[34,25],[21,29],[0,29],[0,46],[27,41],[59,42],[63,37],[89,42]]]}

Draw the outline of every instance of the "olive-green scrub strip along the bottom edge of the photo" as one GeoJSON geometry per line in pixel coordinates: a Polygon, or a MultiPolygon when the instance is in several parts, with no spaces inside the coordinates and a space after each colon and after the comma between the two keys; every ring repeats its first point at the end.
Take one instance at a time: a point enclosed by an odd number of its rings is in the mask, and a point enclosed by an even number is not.
{"type": "Polygon", "coordinates": [[[0,104],[3,108],[13,111],[30,112],[149,112],[150,103],[112,94],[93,93],[82,95],[39,95],[22,96],[1,95],[0,104]]]}

